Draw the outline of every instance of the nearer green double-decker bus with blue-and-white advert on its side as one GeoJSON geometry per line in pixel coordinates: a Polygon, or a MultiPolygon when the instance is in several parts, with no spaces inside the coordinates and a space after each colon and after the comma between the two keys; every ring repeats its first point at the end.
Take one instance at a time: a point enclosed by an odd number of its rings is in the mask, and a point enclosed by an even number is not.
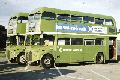
{"type": "Polygon", "coordinates": [[[42,7],[28,16],[25,59],[44,68],[54,63],[117,60],[113,17],[42,7]]]}

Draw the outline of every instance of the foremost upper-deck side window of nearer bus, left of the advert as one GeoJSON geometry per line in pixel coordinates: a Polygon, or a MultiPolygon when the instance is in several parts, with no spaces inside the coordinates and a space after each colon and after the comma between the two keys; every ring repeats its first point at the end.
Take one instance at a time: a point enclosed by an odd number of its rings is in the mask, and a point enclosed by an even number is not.
{"type": "Polygon", "coordinates": [[[46,20],[55,20],[56,18],[56,14],[53,12],[46,12],[44,11],[42,13],[42,19],[46,19],[46,20]]]}

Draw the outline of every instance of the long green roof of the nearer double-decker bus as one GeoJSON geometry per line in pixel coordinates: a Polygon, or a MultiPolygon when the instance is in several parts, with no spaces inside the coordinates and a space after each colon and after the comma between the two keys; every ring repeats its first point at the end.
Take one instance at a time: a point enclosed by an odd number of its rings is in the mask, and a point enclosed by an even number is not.
{"type": "Polygon", "coordinates": [[[78,12],[78,11],[70,11],[70,10],[61,10],[61,9],[56,9],[56,8],[48,8],[48,7],[41,7],[38,9],[35,9],[31,13],[42,13],[44,11],[48,12],[54,12],[56,14],[70,14],[70,15],[76,15],[76,16],[90,16],[90,17],[95,17],[95,18],[101,18],[101,19],[113,19],[112,16],[106,16],[106,15],[100,15],[100,14],[92,14],[92,13],[85,13],[85,12],[78,12]]]}

